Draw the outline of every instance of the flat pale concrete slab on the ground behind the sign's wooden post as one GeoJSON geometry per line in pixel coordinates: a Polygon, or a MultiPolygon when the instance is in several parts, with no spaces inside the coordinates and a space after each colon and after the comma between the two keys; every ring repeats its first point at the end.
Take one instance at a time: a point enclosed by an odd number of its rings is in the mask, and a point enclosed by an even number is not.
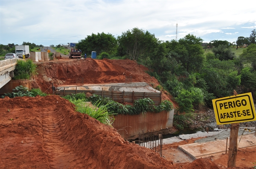
{"type": "MultiPolygon", "coordinates": [[[[226,139],[216,139],[215,141],[209,141],[204,143],[193,143],[193,144],[185,144],[178,146],[192,158],[204,158],[210,157],[215,154],[225,153],[226,151],[226,142],[227,142],[227,151],[229,147],[229,138],[228,141],[226,139]]],[[[238,136],[238,149],[241,148],[253,148],[256,147],[256,136],[253,133],[244,134],[238,136]],[[241,140],[240,140],[241,138],[241,140]],[[240,142],[239,142],[240,141],[240,142]]]]}

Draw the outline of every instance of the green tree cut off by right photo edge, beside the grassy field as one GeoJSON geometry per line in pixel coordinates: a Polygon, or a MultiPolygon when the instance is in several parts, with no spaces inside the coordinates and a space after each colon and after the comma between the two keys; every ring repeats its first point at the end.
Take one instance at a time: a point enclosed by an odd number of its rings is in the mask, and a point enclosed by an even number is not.
{"type": "Polygon", "coordinates": [[[256,45],[251,44],[243,50],[243,53],[240,55],[240,59],[244,63],[251,65],[252,70],[256,70],[256,45]]]}

